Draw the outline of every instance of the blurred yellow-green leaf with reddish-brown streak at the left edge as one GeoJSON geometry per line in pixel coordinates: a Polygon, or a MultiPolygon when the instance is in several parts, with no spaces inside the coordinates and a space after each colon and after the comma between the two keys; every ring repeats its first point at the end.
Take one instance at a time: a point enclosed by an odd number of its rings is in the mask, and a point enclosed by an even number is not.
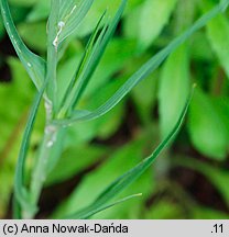
{"type": "Polygon", "coordinates": [[[20,139],[34,93],[21,63],[14,58],[8,61],[13,81],[0,83],[0,218],[6,214],[10,201],[20,139]]]}

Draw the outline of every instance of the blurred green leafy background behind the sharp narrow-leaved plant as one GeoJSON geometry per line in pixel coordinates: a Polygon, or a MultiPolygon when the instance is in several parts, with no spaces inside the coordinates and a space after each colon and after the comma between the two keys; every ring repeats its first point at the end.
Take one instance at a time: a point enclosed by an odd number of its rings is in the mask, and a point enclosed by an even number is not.
{"type": "MultiPolygon", "coordinates": [[[[47,0],[10,0],[23,41],[45,57],[47,0]]],[[[58,80],[74,74],[105,9],[97,0],[64,48],[58,80]]],[[[217,0],[129,0],[127,11],[81,101],[96,108],[146,59],[217,4],[217,0]]],[[[196,33],[102,119],[68,128],[62,159],[46,181],[39,218],[59,217],[89,204],[138,163],[172,129],[197,84],[179,135],[124,194],[143,193],[95,218],[229,217],[229,14],[196,33]]],[[[35,89],[0,20],[0,218],[11,218],[17,157],[35,89]]],[[[44,110],[33,132],[28,168],[41,142],[44,110]]]]}

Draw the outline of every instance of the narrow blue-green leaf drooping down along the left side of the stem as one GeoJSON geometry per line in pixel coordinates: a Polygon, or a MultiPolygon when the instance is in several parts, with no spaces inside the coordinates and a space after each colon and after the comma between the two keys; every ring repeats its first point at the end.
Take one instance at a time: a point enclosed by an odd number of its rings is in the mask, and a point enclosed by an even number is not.
{"type": "Polygon", "coordinates": [[[25,167],[26,154],[29,150],[30,137],[32,134],[32,129],[33,129],[35,116],[39,110],[39,105],[41,103],[41,100],[42,100],[42,97],[45,90],[45,84],[37,92],[34,99],[34,102],[33,102],[33,105],[32,105],[32,109],[29,115],[29,121],[28,121],[28,124],[26,124],[26,127],[23,134],[21,149],[20,149],[19,158],[18,158],[17,170],[15,170],[14,194],[15,194],[18,202],[22,206],[22,208],[26,211],[33,210],[33,206],[30,204],[29,191],[24,185],[24,167],[25,167]]]}

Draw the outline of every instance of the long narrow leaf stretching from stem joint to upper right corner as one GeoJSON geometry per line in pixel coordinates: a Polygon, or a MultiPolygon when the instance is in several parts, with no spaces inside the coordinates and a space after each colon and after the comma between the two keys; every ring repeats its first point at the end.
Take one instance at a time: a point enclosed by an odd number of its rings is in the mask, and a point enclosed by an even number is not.
{"type": "Polygon", "coordinates": [[[222,12],[225,10],[222,7],[225,5],[218,4],[211,11],[197,20],[196,23],[194,23],[193,26],[185,31],[181,36],[168,44],[168,46],[152,57],[132,77],[130,77],[127,82],[105,104],[96,109],[94,112],[88,113],[87,115],[73,114],[72,117],[63,121],[56,121],[56,123],[69,125],[74,122],[95,120],[109,112],[132,90],[132,88],[134,88],[140,81],[152,74],[179,45],[187,41],[196,31],[205,26],[208,21],[222,12]]]}

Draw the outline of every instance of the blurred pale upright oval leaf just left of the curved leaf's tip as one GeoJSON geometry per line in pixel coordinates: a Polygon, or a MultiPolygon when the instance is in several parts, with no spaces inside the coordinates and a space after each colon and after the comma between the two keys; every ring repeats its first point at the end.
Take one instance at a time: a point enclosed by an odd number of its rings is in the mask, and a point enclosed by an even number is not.
{"type": "Polygon", "coordinates": [[[176,123],[189,91],[189,64],[187,46],[183,45],[165,63],[160,78],[159,104],[162,137],[176,123]]]}

